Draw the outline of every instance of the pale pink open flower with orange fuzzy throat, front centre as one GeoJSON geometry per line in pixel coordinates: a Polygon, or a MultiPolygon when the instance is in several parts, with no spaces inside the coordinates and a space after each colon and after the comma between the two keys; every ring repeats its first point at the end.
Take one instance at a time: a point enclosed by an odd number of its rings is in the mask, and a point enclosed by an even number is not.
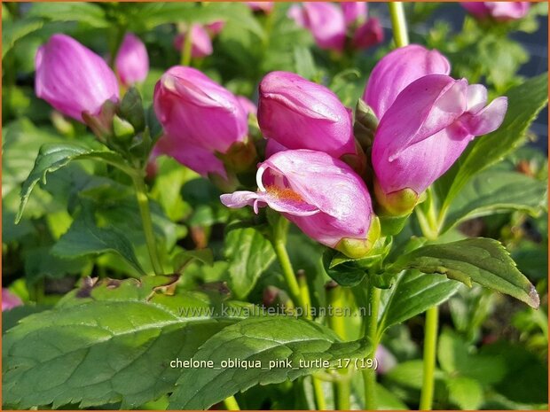
{"type": "Polygon", "coordinates": [[[258,167],[258,191],[222,195],[225,206],[270,206],[309,237],[354,256],[364,255],[373,207],[365,183],[339,159],[323,152],[278,152],[258,167]],[[352,245],[350,248],[349,246],[352,245]]]}

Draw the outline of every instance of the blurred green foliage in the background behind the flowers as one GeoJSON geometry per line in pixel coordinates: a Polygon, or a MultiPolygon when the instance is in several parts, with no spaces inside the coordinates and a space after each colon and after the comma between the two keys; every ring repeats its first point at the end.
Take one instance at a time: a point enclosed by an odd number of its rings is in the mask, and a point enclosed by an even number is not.
{"type": "MultiPolygon", "coordinates": [[[[37,47],[52,34],[62,32],[108,56],[115,51],[117,39],[126,31],[134,32],[145,42],[151,61],[149,75],[139,86],[145,105],[150,106],[155,82],[181,61],[173,45],[178,25],[223,19],[226,25],[214,39],[214,53],[192,61],[212,79],[255,100],[257,84],[264,74],[286,70],[326,84],[344,105],[353,107],[375,62],[393,47],[386,5],[370,4],[369,11],[381,19],[386,41],[367,51],[342,56],[319,50],[310,33],[287,18],[290,5],[279,3],[273,12],[263,14],[237,3],[2,4],[3,286],[25,303],[4,314],[4,330],[29,313],[51,307],[84,276],[139,276],[128,256],[108,253],[112,245],[90,241],[94,230],[123,233],[139,264],[145,269],[150,265],[129,182],[105,165],[83,161],[66,167],[62,173],[52,173],[47,184],[41,183],[35,189],[20,224],[14,224],[20,185],[42,144],[75,139],[96,144],[83,125],[64,119],[35,97],[37,47]],[[91,225],[87,214],[91,214],[91,225]],[[67,248],[67,244],[72,247],[67,248]]],[[[536,52],[537,43],[547,38],[546,3],[533,4],[525,19],[500,25],[466,16],[458,4],[406,4],[406,14],[412,43],[444,53],[452,61],[453,76],[483,82],[490,89],[490,98],[502,95],[526,76],[546,71],[547,56],[536,52]],[[534,58],[539,61],[533,64],[534,58]]],[[[546,43],[539,47],[547,54],[546,43]]],[[[546,121],[543,111],[530,133],[530,142],[480,175],[468,189],[471,196],[482,197],[483,190],[507,190],[507,183],[514,179],[522,184],[522,179],[528,179],[529,187],[535,188],[524,194],[530,197],[525,201],[530,207],[513,213],[471,216],[446,235],[447,240],[484,236],[502,241],[519,268],[537,285],[541,307],[524,307],[480,286],[460,286],[441,309],[435,408],[546,408],[546,121]],[[499,173],[500,178],[495,177],[499,173]],[[503,176],[508,179],[504,185],[503,176]]],[[[254,125],[251,132],[259,133],[254,125]]],[[[191,289],[225,281],[240,299],[260,304],[266,288],[284,288],[279,264],[274,261],[271,247],[264,245],[261,232],[225,227],[236,218],[254,219],[249,211],[222,206],[220,192],[212,183],[173,159],[159,159],[149,184],[154,229],[163,244],[161,253],[171,257],[184,253],[185,261],[185,250],[208,245],[213,251],[211,266],[200,262],[184,265],[185,276],[178,287],[191,289]],[[264,259],[240,261],[239,253],[231,253],[237,245],[240,252],[243,247],[265,247],[264,259]],[[233,276],[243,265],[246,282],[233,276]]],[[[418,223],[412,222],[400,235],[401,240],[419,233],[418,223]]],[[[395,242],[399,241],[397,237],[395,242]]],[[[308,275],[313,306],[324,305],[329,277],[321,263],[323,249],[293,229],[288,250],[295,268],[308,275]]],[[[174,268],[166,270],[169,273],[174,268]]],[[[351,294],[348,298],[353,299],[351,294]]],[[[349,330],[357,330],[354,318],[346,322],[350,323],[349,330]]],[[[382,406],[418,407],[422,324],[421,316],[416,316],[390,328],[384,338],[383,345],[395,358],[395,365],[381,377],[382,406]]],[[[360,386],[359,378],[352,393],[352,406],[356,408],[362,403],[360,386]]],[[[307,408],[310,396],[289,395],[293,391],[295,386],[284,384],[255,387],[238,398],[241,408],[307,408]]],[[[165,407],[163,399],[143,406],[165,407]]]]}

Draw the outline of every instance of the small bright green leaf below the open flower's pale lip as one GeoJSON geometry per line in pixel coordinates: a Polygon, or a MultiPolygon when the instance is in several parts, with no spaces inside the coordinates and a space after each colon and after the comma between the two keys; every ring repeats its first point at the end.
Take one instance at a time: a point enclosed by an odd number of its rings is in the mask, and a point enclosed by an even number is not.
{"type": "Polygon", "coordinates": [[[224,255],[229,261],[230,288],[245,298],[260,275],[275,259],[271,241],[256,228],[231,229],[225,235],[224,255]]]}

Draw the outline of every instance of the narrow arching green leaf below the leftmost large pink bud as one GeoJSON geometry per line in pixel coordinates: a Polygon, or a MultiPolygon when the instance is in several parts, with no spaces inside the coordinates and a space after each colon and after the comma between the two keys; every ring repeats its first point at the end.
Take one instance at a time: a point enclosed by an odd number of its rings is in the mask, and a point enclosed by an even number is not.
{"type": "Polygon", "coordinates": [[[119,167],[123,170],[129,169],[124,159],[115,152],[96,151],[79,144],[44,144],[35,159],[35,167],[33,167],[27,176],[27,180],[21,187],[21,203],[16,222],[20,221],[23,210],[27,205],[28,197],[36,183],[39,181],[46,183],[46,175],[48,173],[55,172],[61,167],[67,166],[71,161],[80,159],[99,159],[114,167],[119,167]]]}

